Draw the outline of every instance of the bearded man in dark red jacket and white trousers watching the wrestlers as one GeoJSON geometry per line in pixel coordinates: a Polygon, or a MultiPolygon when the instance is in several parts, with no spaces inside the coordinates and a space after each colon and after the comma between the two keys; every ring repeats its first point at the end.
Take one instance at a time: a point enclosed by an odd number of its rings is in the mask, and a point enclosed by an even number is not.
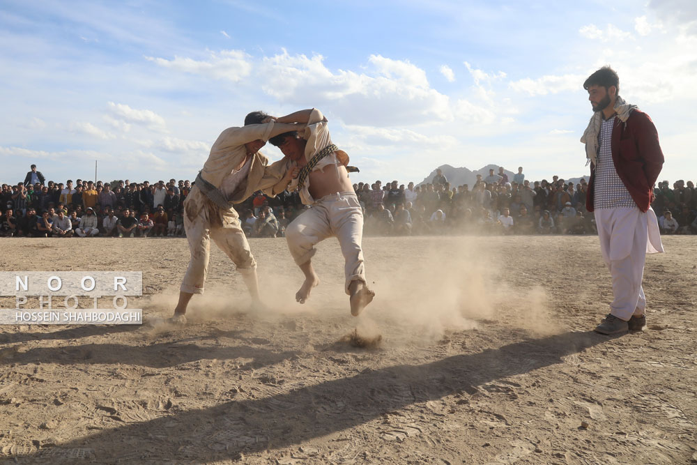
{"type": "Polygon", "coordinates": [[[597,70],[583,88],[595,112],[581,137],[590,160],[586,208],[595,211],[614,296],[610,313],[595,331],[609,335],[641,330],[646,323],[641,287],[646,253],[663,252],[650,203],[664,156],[651,119],[619,96],[614,70],[597,70]]]}

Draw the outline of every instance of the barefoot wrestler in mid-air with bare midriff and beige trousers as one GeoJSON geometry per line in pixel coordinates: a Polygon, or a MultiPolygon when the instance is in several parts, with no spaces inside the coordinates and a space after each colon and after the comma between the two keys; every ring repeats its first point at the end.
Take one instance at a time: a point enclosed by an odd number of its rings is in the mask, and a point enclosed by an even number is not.
{"type": "Polygon", "coordinates": [[[368,289],[365,280],[361,250],[363,213],[346,170],[348,155],[332,144],[327,119],[316,108],[280,118],[269,116],[264,121],[306,125],[301,131],[284,132],[269,139],[286,155],[286,164],[297,163],[300,174],[289,189],[298,190],[302,203],[312,206],[286,227],[291,255],[305,275],[296,300],[305,303],[312,288],[319,284],[312,267],[314,246],[335,236],[345,260],[344,290],[349,296],[351,314],[356,317],[375,293],[368,289]]]}

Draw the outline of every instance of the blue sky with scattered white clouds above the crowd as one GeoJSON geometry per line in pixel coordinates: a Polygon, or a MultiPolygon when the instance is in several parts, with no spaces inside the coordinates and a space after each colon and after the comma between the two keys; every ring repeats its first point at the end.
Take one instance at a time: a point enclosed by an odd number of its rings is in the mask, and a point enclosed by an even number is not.
{"type": "MultiPolygon", "coordinates": [[[[247,112],[318,107],[360,167],[421,181],[493,163],[587,174],[583,80],[650,114],[661,179],[697,178],[697,2],[0,4],[0,181],[193,179],[247,112]]],[[[273,160],[276,148],[262,149],[273,160]]]]}

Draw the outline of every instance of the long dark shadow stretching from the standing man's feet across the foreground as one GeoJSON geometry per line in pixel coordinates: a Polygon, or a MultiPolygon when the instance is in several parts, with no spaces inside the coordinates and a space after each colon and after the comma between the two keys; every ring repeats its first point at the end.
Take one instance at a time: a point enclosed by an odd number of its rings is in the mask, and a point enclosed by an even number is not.
{"type": "Polygon", "coordinates": [[[59,463],[61,450],[88,448],[98,463],[236,459],[240,452],[285,448],[350,429],[417,402],[474,392],[484,383],[562,363],[564,356],[607,341],[595,333],[565,333],[424,365],[365,371],[271,397],[132,423],[15,457],[20,463],[59,463]]]}

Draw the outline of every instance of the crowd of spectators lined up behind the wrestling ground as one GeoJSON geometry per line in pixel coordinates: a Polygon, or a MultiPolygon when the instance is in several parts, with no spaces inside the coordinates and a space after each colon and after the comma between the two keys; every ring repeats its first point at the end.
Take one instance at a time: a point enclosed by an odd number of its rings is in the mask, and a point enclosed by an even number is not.
{"type": "MultiPolygon", "coordinates": [[[[523,168],[509,179],[477,174],[475,183],[452,186],[438,169],[429,183],[398,181],[357,183],[353,189],[364,209],[367,235],[440,234],[595,234],[585,208],[588,185],[553,176],[530,183],[523,168]]],[[[0,236],[153,237],[183,236],[183,202],[190,181],[48,181],[36,166],[24,182],[2,185],[0,236]]],[[[652,203],[663,234],[697,234],[697,195],[692,181],[671,189],[662,181],[652,203]]],[[[245,233],[280,237],[302,213],[296,192],[254,197],[235,206],[245,233]]]]}

